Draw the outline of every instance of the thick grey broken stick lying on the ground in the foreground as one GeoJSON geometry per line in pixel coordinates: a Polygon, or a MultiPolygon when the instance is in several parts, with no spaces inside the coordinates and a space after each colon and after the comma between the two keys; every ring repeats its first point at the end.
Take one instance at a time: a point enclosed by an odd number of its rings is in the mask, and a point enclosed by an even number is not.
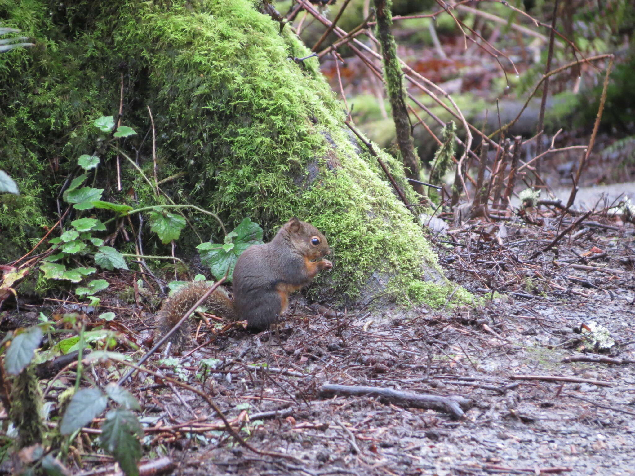
{"type": "Polygon", "coordinates": [[[457,420],[465,418],[462,407],[469,408],[471,406],[471,400],[458,395],[442,397],[441,395],[429,395],[427,393],[404,392],[403,390],[394,390],[394,388],[358,387],[357,385],[324,383],[320,387],[320,393],[322,395],[336,393],[338,395],[380,397],[381,400],[402,407],[425,408],[449,413],[457,420]]]}

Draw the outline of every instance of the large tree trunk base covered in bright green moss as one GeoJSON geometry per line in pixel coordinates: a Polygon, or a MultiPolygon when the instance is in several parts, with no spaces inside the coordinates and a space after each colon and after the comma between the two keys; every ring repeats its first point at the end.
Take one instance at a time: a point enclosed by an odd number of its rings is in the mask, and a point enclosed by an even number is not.
{"type": "MultiPolygon", "coordinates": [[[[310,221],[333,244],[335,268],[321,289],[340,297],[379,283],[396,296],[444,303],[453,286],[376,159],[344,126],[318,60],[295,61],[310,51],[261,10],[250,0],[0,0],[3,26],[38,43],[0,56],[0,168],[22,190],[0,196],[0,233],[11,244],[4,257],[29,249],[39,225],[57,220],[60,184],[77,156],[95,150],[91,121],[119,112],[123,77],[123,122],[140,134],[121,147],[152,176],[149,106],[158,179],[170,178],[162,187],[174,201],[215,211],[230,227],[250,216],[269,236],[290,216],[310,221]]],[[[401,164],[381,154],[407,189],[401,164]]],[[[93,186],[105,200],[156,204],[125,162],[117,190],[114,154],[101,159],[93,186]]],[[[190,221],[204,236],[220,232],[206,216],[190,221]]],[[[177,244],[192,253],[193,241],[177,244]]]]}

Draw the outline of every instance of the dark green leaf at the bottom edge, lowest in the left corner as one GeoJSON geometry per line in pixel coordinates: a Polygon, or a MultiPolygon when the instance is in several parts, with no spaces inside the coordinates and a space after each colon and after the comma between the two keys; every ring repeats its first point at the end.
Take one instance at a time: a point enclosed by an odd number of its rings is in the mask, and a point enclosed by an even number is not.
{"type": "Polygon", "coordinates": [[[141,459],[139,438],[144,434],[139,420],[130,410],[110,410],[102,425],[100,446],[112,454],[126,476],[138,476],[137,462],[141,459]]]}

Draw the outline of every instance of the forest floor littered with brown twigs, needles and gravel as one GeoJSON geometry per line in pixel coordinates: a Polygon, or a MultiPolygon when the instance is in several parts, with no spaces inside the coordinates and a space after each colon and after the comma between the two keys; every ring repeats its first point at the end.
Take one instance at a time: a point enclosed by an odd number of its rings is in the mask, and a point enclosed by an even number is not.
{"type": "MultiPolygon", "coordinates": [[[[212,343],[155,356],[166,375],[202,383],[248,444],[295,460],[245,449],[217,431],[222,421],[201,397],[137,377],[129,388],[144,407],[144,453],[170,456],[184,475],[635,475],[633,227],[587,217],[544,251],[568,227],[558,214],[511,220],[432,237],[448,277],[480,296],[473,306],[316,314],[297,298],[283,329],[212,324],[212,343]],[[595,326],[610,334],[604,351],[595,326]],[[594,359],[604,361],[584,362],[594,359]],[[470,403],[455,418],[332,395],[326,383],[470,403]]],[[[148,338],[152,314],[131,315],[123,324],[148,338]]],[[[201,330],[198,342],[209,338],[201,330]]]]}

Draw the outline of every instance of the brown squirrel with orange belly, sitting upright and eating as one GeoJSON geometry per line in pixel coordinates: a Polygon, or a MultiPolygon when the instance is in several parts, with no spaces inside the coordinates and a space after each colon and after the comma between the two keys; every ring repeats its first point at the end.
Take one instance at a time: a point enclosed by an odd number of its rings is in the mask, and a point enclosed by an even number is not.
{"type": "MultiPolygon", "coordinates": [[[[240,255],[232,275],[234,302],[219,287],[202,305],[219,317],[246,320],[251,329],[267,329],[286,309],[289,294],[309,284],[321,270],[333,267],[331,261],[322,259],[329,253],[328,241],[318,228],[293,217],[269,243],[250,246],[240,255]]],[[[211,286],[192,282],[168,298],[157,314],[161,334],[170,331],[211,286]]],[[[173,347],[190,340],[188,324],[184,322],[170,336],[173,347]]]]}

